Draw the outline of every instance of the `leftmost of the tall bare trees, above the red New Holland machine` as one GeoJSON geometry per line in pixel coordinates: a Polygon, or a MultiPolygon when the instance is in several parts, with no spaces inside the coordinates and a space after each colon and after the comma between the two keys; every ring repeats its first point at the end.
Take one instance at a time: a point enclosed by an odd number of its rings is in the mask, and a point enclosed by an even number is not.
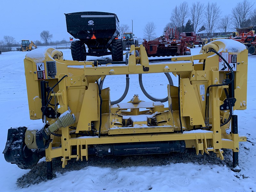
{"type": "Polygon", "coordinates": [[[186,1],[182,2],[179,6],[175,6],[172,10],[172,16],[170,21],[183,32],[185,20],[188,18],[188,3],[186,1]]]}

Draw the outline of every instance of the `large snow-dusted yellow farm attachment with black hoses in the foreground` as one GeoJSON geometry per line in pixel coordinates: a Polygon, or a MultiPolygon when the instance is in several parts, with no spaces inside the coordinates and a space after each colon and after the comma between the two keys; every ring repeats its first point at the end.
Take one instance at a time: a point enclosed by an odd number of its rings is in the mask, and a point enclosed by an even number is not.
{"type": "MultiPolygon", "coordinates": [[[[43,123],[8,130],[4,157],[31,169],[45,156],[47,178],[52,159],[64,168],[71,158],[91,155],[143,155],[185,152],[215,153],[232,149],[233,170],[239,171],[237,115],[246,109],[248,51],[239,42],[221,39],[204,45],[198,55],[149,62],[145,47],[131,45],[125,61],[64,60],[54,48],[29,52],[24,60],[30,119],[43,123]],[[164,73],[169,81],[163,99],[145,90],[143,74],[164,73]],[[169,73],[178,78],[174,86],[169,73]],[[129,90],[129,75],[138,74],[142,101],[129,90]],[[102,89],[108,76],[126,75],[124,94],[111,100],[102,89]],[[164,105],[164,102],[167,102],[164,105]],[[231,131],[226,132],[226,130],[231,131]]],[[[243,156],[241,155],[243,158],[243,156]]]]}

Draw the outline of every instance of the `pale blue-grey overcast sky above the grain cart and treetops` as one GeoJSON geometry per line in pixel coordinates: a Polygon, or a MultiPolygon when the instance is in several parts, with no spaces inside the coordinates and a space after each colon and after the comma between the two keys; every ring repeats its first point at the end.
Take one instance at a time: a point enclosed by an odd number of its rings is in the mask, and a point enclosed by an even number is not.
{"type": "MultiPolygon", "coordinates": [[[[207,4],[207,0],[198,0],[207,4]]],[[[231,13],[232,7],[241,0],[211,0],[220,5],[221,15],[231,13]]],[[[49,30],[52,41],[71,37],[67,32],[64,13],[100,11],[116,13],[121,24],[128,24],[135,36],[143,38],[143,28],[148,21],[156,24],[157,36],[162,35],[170,22],[172,9],[181,1],[113,1],[113,0],[1,0],[0,40],[4,35],[21,39],[40,40],[40,33],[49,30]],[[132,3],[132,4],[129,4],[132,3]]],[[[196,0],[187,1],[189,5],[196,0]]],[[[203,10],[202,10],[203,11],[203,10]]]]}

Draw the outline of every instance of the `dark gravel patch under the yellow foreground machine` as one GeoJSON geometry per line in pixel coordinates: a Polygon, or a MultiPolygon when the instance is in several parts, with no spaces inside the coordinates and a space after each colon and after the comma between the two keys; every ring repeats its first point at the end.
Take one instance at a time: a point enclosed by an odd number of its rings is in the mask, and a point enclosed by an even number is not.
{"type": "MultiPolygon", "coordinates": [[[[53,179],[56,178],[55,172],[61,174],[73,170],[80,170],[86,166],[109,167],[118,169],[120,167],[132,166],[161,166],[175,163],[195,163],[195,164],[216,164],[232,167],[232,150],[224,149],[224,160],[217,158],[216,154],[210,152],[210,155],[196,155],[195,149],[186,149],[185,153],[158,154],[158,155],[137,155],[137,156],[104,156],[98,157],[95,155],[89,156],[88,162],[76,161],[75,158],[68,161],[68,165],[63,169],[61,158],[52,160],[53,179]]],[[[19,188],[28,188],[30,185],[35,185],[41,182],[47,182],[46,163],[40,162],[33,167],[30,172],[17,179],[19,188]]]]}

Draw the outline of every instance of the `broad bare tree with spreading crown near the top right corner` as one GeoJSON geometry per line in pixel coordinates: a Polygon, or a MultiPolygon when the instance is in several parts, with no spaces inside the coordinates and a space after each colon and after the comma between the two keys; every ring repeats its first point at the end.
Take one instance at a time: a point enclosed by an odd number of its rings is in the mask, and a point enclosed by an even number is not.
{"type": "Polygon", "coordinates": [[[243,23],[249,19],[249,16],[252,12],[253,5],[254,3],[252,3],[252,1],[243,0],[237,3],[234,8],[232,8],[232,16],[234,19],[235,27],[237,28],[248,27],[248,26],[243,26],[243,23]]]}

